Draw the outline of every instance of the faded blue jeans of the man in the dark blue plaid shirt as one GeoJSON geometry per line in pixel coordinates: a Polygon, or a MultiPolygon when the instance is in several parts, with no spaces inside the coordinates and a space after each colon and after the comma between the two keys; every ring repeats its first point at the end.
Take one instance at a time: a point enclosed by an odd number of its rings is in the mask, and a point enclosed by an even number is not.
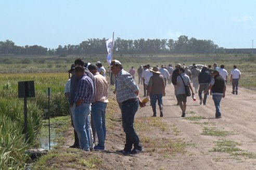
{"type": "Polygon", "coordinates": [[[88,150],[89,143],[89,127],[90,118],[89,112],[91,111],[91,104],[83,103],[81,106],[75,107],[74,112],[74,126],[75,131],[78,133],[79,144],[81,149],[88,150]]]}

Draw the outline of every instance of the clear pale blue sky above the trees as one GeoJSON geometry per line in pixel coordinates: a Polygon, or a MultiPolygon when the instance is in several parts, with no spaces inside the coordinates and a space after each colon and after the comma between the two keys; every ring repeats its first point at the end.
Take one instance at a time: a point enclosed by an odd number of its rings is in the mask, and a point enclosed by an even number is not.
{"type": "Polygon", "coordinates": [[[57,48],[114,32],[122,39],[186,35],[224,48],[252,48],[255,6],[255,0],[0,0],[0,41],[57,48]]]}

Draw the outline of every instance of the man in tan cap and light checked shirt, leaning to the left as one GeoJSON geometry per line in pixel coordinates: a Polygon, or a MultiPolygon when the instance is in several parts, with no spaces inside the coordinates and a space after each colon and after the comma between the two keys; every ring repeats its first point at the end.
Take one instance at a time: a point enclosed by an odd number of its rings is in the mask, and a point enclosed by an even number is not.
{"type": "Polygon", "coordinates": [[[139,137],[134,130],[133,123],[138,106],[145,107],[145,104],[139,98],[139,88],[137,84],[132,76],[123,70],[120,61],[112,60],[110,67],[113,74],[117,76],[117,102],[122,112],[123,130],[126,135],[126,143],[121,152],[123,154],[139,153],[143,151],[143,147],[139,143],[139,137]]]}

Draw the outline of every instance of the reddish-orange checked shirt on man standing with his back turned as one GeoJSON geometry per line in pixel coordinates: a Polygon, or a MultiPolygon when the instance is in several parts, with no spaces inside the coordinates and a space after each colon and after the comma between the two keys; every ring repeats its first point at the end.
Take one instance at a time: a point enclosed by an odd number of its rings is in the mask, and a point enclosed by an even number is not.
{"type": "Polygon", "coordinates": [[[108,103],[108,81],[107,79],[100,75],[98,72],[94,74],[95,79],[95,97],[93,102],[99,101],[108,103]]]}

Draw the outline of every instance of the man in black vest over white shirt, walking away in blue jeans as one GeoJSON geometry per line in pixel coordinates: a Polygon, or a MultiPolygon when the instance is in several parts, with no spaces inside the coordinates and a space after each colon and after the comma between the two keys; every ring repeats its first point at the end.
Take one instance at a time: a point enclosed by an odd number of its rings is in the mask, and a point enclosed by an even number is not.
{"type": "Polygon", "coordinates": [[[220,103],[222,97],[225,97],[226,83],[222,76],[219,74],[219,70],[217,69],[212,71],[212,77],[213,79],[210,82],[210,86],[206,91],[204,91],[204,94],[206,94],[210,89],[212,90],[212,99],[216,108],[215,118],[218,119],[221,118],[220,103]]]}

